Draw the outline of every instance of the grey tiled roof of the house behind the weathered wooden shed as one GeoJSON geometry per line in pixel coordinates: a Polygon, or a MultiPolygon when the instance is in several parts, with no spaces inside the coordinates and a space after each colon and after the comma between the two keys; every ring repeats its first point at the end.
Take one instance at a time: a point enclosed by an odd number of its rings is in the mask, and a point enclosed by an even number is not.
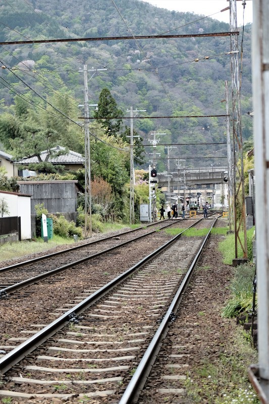
{"type": "MultiPolygon", "coordinates": [[[[65,147],[57,146],[51,148],[51,150],[64,150],[65,147]]],[[[47,156],[47,151],[41,151],[40,157],[41,160],[44,161],[47,156]]],[[[17,161],[16,164],[30,164],[30,163],[38,163],[37,157],[24,158],[20,161],[17,161]]],[[[76,153],[76,151],[70,150],[69,153],[61,156],[52,156],[48,158],[48,163],[52,164],[82,164],[84,163],[84,157],[80,153],[76,153]]]]}

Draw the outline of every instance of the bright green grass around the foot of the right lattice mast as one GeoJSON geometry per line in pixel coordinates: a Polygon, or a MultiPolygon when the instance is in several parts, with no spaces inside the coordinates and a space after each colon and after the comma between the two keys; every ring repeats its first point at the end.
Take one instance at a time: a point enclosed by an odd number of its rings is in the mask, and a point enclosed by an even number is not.
{"type": "MultiPolygon", "coordinates": [[[[250,261],[253,260],[253,252],[252,252],[252,240],[254,234],[254,227],[247,230],[247,252],[248,252],[248,259],[250,261]]],[[[240,239],[244,240],[243,232],[239,233],[240,239]]],[[[224,264],[231,265],[233,259],[235,258],[235,235],[228,234],[225,240],[219,243],[219,250],[223,255],[223,262],[224,264]]],[[[238,258],[243,258],[243,251],[241,248],[240,243],[238,243],[238,258]]]]}

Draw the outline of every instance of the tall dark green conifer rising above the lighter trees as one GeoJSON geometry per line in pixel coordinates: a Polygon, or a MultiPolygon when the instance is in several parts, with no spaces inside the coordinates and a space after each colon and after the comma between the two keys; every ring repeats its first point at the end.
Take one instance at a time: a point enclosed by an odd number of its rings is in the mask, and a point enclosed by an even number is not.
{"type": "Polygon", "coordinates": [[[123,112],[117,108],[115,98],[111,95],[110,90],[103,88],[99,95],[98,110],[94,111],[94,118],[105,129],[107,135],[119,134],[123,112]],[[101,119],[105,118],[105,119],[101,119]]]}

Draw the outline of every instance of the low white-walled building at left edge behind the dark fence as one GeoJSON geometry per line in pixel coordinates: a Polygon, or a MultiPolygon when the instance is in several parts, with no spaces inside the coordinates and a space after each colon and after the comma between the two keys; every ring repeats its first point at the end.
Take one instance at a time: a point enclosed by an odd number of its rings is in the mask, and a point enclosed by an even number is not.
{"type": "MultiPolygon", "coordinates": [[[[20,218],[20,238],[21,240],[28,240],[32,237],[31,232],[31,195],[0,191],[0,198],[4,199],[7,203],[9,213],[3,215],[4,218],[20,218]]],[[[7,229],[9,227],[8,220],[7,229]]],[[[17,240],[17,239],[14,239],[17,240]]],[[[9,239],[8,241],[11,241],[9,239]]]]}

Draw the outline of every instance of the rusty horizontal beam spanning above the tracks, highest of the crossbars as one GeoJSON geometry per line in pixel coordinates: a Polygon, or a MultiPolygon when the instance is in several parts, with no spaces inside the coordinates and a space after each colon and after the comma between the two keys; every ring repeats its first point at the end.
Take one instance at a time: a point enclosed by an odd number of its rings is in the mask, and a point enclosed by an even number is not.
{"type": "Polygon", "coordinates": [[[169,39],[169,38],[204,38],[206,36],[234,36],[239,35],[239,31],[235,32],[210,32],[203,34],[185,34],[185,35],[137,35],[137,36],[97,36],[93,38],[63,38],[63,39],[34,39],[27,41],[6,41],[0,42],[0,45],[23,45],[30,43],[55,43],[55,42],[83,42],[83,41],[122,41],[136,39],[169,39]]]}

